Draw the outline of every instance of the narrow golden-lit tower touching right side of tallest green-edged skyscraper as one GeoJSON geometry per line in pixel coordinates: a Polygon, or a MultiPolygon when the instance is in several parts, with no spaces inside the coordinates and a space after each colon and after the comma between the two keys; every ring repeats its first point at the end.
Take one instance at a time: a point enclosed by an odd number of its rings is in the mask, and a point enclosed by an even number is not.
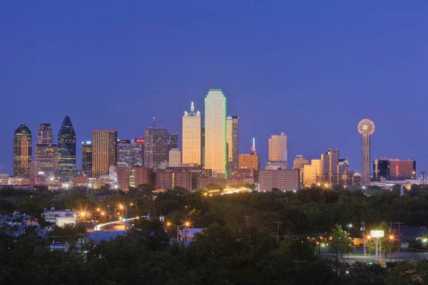
{"type": "Polygon", "coordinates": [[[226,118],[226,142],[228,143],[228,172],[238,170],[239,117],[228,115],[226,118]]]}

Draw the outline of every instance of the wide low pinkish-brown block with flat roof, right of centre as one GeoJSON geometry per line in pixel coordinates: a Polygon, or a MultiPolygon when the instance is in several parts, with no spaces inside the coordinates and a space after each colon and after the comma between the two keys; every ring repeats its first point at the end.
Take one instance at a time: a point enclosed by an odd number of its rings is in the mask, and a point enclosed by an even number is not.
{"type": "Polygon", "coordinates": [[[297,191],[300,189],[299,170],[260,170],[259,190],[271,191],[277,188],[280,191],[297,191]]]}

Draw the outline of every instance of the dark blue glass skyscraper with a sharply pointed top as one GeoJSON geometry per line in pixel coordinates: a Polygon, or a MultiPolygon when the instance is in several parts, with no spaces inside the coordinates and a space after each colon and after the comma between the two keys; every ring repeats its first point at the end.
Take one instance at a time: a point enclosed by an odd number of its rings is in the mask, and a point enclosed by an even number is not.
{"type": "Polygon", "coordinates": [[[66,115],[58,132],[58,167],[56,174],[61,182],[70,182],[77,173],[76,133],[70,117],[66,115]]]}

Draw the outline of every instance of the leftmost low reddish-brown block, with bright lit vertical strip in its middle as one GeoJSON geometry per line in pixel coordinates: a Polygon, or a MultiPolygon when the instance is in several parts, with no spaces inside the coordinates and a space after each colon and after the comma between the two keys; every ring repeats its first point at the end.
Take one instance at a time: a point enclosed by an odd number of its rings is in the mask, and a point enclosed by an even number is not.
{"type": "Polygon", "coordinates": [[[136,188],[141,184],[152,184],[153,172],[147,167],[116,167],[117,185],[121,190],[136,188]]]}

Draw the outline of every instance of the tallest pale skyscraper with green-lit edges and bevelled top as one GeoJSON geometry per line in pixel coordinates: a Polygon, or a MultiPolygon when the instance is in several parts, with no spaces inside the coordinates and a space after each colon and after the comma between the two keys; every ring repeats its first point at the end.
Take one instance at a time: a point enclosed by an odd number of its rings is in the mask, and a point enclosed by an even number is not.
{"type": "Polygon", "coordinates": [[[226,98],[222,90],[210,89],[205,98],[205,168],[226,176],[226,162],[226,98]]]}

